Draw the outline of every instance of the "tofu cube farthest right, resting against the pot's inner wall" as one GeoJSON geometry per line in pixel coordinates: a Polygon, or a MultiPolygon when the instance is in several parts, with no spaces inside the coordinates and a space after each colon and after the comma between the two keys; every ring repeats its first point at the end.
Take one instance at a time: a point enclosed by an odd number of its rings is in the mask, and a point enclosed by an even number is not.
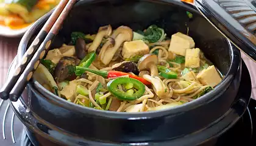
{"type": "Polygon", "coordinates": [[[204,69],[197,74],[196,77],[202,83],[202,85],[209,85],[212,87],[218,85],[222,80],[215,66],[209,66],[207,69],[204,69]]]}

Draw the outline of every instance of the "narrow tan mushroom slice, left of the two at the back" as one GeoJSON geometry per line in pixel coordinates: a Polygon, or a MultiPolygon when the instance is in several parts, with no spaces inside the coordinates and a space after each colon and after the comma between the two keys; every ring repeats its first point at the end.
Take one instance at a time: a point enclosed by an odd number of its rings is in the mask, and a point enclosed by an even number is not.
{"type": "Polygon", "coordinates": [[[93,50],[96,51],[96,49],[101,44],[103,37],[110,36],[111,34],[112,34],[112,27],[110,25],[99,27],[98,33],[95,36],[95,39],[93,40],[93,44],[91,44],[91,46],[89,47],[88,52],[91,52],[93,50]]]}

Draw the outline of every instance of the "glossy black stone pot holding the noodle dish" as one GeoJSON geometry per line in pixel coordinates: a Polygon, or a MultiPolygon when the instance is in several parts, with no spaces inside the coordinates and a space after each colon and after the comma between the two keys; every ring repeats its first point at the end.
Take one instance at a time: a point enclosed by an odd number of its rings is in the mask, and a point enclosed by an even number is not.
{"type": "MultiPolygon", "coordinates": [[[[26,32],[18,61],[49,14],[26,32]]],[[[175,1],[79,1],[65,19],[52,49],[70,41],[70,33],[96,33],[100,26],[133,30],[151,24],[171,36],[187,33],[225,75],[215,90],[177,108],[146,113],[115,113],[67,102],[32,80],[12,108],[29,131],[62,145],[197,145],[213,141],[240,119],[251,96],[251,79],[240,51],[193,7],[175,1]],[[186,11],[193,13],[188,18],[186,11]],[[243,75],[243,82],[241,76],[243,75]]]]}

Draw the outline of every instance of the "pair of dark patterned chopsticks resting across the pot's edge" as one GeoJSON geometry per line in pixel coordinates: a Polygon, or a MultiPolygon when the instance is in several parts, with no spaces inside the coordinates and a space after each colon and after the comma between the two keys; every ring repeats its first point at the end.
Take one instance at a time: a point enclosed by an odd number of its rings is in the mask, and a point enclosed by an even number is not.
{"type": "Polygon", "coordinates": [[[10,77],[1,88],[1,99],[10,99],[13,102],[16,102],[19,99],[27,82],[32,78],[40,60],[47,54],[49,46],[52,44],[52,40],[59,32],[64,19],[75,3],[76,0],[60,1],[59,5],[57,5],[48,21],[46,21],[46,24],[44,24],[29,49],[27,49],[20,64],[16,67],[13,76],[10,77]]]}

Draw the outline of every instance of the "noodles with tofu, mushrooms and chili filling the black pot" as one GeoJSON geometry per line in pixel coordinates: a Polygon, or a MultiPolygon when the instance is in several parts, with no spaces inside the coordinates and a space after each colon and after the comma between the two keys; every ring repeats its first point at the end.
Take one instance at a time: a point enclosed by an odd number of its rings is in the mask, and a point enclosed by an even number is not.
{"type": "Polygon", "coordinates": [[[70,44],[49,50],[34,78],[68,102],[128,113],[183,105],[222,81],[193,38],[180,32],[168,38],[155,25],[73,32],[70,44]]]}

